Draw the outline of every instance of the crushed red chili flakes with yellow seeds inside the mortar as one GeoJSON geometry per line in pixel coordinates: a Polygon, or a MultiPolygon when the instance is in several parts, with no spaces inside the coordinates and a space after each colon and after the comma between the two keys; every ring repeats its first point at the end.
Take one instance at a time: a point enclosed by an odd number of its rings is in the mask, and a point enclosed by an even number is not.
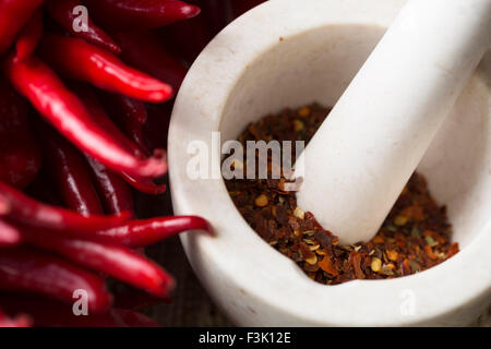
{"type": "MultiPolygon", "coordinates": [[[[247,141],[309,142],[330,110],[312,105],[266,116],[250,124],[239,141],[244,146],[247,141]]],[[[256,160],[259,156],[258,153],[256,160]]],[[[271,154],[267,160],[271,174],[271,154]]],[[[246,173],[247,163],[242,168],[246,173]]],[[[458,252],[458,243],[451,242],[445,206],[436,204],[424,178],[417,172],[378,234],[369,242],[352,245],[339,245],[335,234],[323,229],[311,213],[298,207],[296,193],[285,191],[286,182],[285,178],[231,179],[226,185],[258,234],[315,281],[337,285],[354,279],[406,276],[435,266],[458,252]]]]}

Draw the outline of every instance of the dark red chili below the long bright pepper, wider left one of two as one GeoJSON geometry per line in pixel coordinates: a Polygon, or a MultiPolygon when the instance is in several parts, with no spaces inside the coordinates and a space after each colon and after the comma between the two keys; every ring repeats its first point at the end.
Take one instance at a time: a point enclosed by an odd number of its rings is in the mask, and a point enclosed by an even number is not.
{"type": "Polygon", "coordinates": [[[55,130],[39,125],[45,163],[64,204],[83,216],[103,215],[103,206],[84,157],[55,130]]]}

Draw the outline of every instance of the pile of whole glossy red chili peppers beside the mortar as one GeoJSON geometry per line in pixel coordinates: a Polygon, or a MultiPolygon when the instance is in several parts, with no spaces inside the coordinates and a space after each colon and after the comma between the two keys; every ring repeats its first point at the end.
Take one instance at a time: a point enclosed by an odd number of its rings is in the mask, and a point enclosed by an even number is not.
{"type": "Polygon", "coordinates": [[[139,220],[133,196],[166,190],[188,67],[263,1],[189,2],[0,0],[0,327],[155,325],[107,279],[167,299],[175,280],[142,249],[209,227],[139,220]],[[79,290],[89,316],[72,313],[79,290]]]}

